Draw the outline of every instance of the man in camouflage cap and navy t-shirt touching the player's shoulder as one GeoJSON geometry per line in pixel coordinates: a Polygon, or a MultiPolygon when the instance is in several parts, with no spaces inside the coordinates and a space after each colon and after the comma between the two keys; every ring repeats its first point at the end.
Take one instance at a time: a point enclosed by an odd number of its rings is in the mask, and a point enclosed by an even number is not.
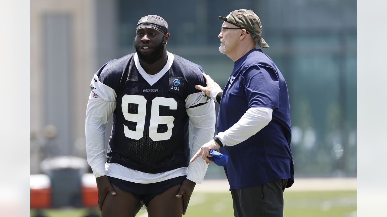
{"type": "Polygon", "coordinates": [[[222,91],[210,76],[196,85],[220,104],[218,134],[195,156],[211,163],[209,151],[229,156],[224,171],[236,217],[283,216],[283,192],[294,183],[291,124],[286,82],[276,64],[255,44],[269,47],[252,10],[234,10],[223,20],[219,51],[234,63],[222,91]]]}

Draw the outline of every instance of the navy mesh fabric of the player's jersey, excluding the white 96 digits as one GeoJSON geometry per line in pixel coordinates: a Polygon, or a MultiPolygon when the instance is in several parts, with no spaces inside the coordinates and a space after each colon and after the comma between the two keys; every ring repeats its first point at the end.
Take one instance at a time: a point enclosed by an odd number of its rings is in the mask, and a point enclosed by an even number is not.
{"type": "MultiPolygon", "coordinates": [[[[117,106],[113,112],[113,129],[108,146],[107,162],[118,163],[145,173],[161,173],[187,167],[189,142],[185,99],[188,95],[199,92],[194,88],[196,84],[205,85],[202,72],[201,67],[197,64],[175,55],[170,70],[151,86],[135,67],[133,54],[105,64],[97,72],[97,75],[102,83],[110,86],[117,94],[117,106]],[[181,88],[171,90],[170,77],[179,79],[181,88]],[[155,89],[157,92],[146,91],[155,89]],[[146,100],[145,113],[141,111],[138,103],[122,105],[122,103],[126,103],[123,97],[127,95],[143,96],[146,100]],[[152,107],[152,103],[157,97],[162,97],[161,101],[173,99],[177,105],[176,109],[166,105],[159,105],[158,108],[152,107]],[[125,110],[127,108],[127,111],[122,111],[122,108],[125,110]],[[158,112],[152,113],[152,109],[158,109],[158,112]],[[141,114],[145,114],[143,135],[140,139],[125,136],[124,128],[136,131],[138,123],[126,120],[124,112],[128,114],[142,112],[141,114]],[[172,133],[168,139],[159,141],[151,139],[149,126],[154,124],[151,123],[151,116],[155,114],[161,118],[173,117],[172,133]]],[[[157,124],[155,127],[157,134],[168,131],[168,125],[165,123],[157,124]]]]}

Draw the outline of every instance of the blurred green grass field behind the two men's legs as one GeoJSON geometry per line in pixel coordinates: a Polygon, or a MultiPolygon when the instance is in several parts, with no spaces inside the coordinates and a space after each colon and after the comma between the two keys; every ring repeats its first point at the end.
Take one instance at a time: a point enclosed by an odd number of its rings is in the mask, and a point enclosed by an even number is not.
{"type": "MultiPolygon", "coordinates": [[[[356,191],[307,191],[284,193],[285,217],[354,217],[356,216],[356,191]]],[[[84,217],[86,209],[42,210],[47,217],[84,217]]],[[[98,213],[98,210],[94,210],[98,213]]],[[[31,210],[31,217],[35,210],[31,210]]],[[[194,193],[186,217],[233,217],[231,194],[194,193]]],[[[147,217],[140,211],[137,217],[147,217]]]]}

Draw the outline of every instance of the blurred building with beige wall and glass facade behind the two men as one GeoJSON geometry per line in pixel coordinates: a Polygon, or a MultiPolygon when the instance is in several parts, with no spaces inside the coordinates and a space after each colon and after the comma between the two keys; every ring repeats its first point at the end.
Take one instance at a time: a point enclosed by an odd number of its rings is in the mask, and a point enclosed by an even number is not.
{"type": "MultiPolygon", "coordinates": [[[[260,17],[262,50],[288,85],[296,178],[356,176],[355,0],[31,1],[31,174],[48,157],[86,158],[90,81],[134,52],[141,17],[166,19],[168,51],[224,86],[233,61],[218,51],[218,16],[244,8],[260,17]]],[[[225,178],[223,168],[211,164],[206,178],[225,178]]]]}

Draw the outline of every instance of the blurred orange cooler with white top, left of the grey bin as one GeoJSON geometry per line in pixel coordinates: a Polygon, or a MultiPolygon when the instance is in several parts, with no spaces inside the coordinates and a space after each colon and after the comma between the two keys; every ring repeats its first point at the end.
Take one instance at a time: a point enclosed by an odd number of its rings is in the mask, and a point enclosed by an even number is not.
{"type": "Polygon", "coordinates": [[[30,176],[31,209],[51,207],[51,181],[47,175],[30,176]]]}

